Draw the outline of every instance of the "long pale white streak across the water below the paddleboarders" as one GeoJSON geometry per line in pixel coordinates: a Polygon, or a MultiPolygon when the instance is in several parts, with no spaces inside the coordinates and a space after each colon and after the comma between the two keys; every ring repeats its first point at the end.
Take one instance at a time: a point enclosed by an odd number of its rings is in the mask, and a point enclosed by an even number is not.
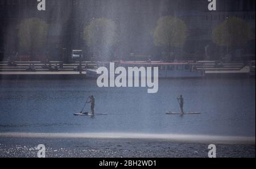
{"type": "Polygon", "coordinates": [[[0,137],[11,138],[89,138],[89,139],[125,139],[125,140],[158,140],[197,143],[221,143],[233,145],[237,143],[255,144],[255,137],[241,136],[208,136],[192,134],[142,134],[142,133],[0,133],[0,137]]]}

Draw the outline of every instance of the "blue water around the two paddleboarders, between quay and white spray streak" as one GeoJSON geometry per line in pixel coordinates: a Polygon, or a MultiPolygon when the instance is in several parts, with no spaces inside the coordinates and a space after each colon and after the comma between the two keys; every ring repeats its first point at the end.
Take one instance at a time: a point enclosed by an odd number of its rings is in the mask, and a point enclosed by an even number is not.
{"type": "MultiPolygon", "coordinates": [[[[89,111],[87,105],[86,110],[89,111]]],[[[255,136],[255,79],[159,79],[147,88],[99,88],[96,81],[1,81],[0,132],[131,132],[255,136]],[[201,115],[165,115],[179,111],[201,115]],[[96,113],[73,116],[89,95],[96,113]]]]}

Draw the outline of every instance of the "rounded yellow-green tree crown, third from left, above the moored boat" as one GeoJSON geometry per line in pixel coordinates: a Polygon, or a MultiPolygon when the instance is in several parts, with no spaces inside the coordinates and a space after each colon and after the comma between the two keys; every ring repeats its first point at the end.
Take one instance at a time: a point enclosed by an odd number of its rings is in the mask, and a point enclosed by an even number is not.
{"type": "Polygon", "coordinates": [[[186,24],[183,20],[173,16],[159,18],[153,35],[156,46],[168,48],[183,47],[187,36],[188,29],[186,24]]]}

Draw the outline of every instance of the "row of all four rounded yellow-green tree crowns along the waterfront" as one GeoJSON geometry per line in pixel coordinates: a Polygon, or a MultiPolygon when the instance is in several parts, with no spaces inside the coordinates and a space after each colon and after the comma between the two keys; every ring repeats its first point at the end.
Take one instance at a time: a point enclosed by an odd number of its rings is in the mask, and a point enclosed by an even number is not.
{"type": "MultiPolygon", "coordinates": [[[[49,24],[39,18],[23,19],[18,25],[19,47],[33,58],[46,44],[49,24]]],[[[174,16],[158,19],[151,33],[157,47],[182,49],[189,35],[183,20],[174,16]]],[[[212,41],[220,47],[241,47],[252,40],[253,32],[249,24],[240,18],[230,17],[212,31],[212,41]]],[[[82,33],[85,45],[97,60],[106,60],[119,43],[118,27],[107,18],[93,19],[82,33]]],[[[171,51],[168,51],[171,52],[171,51]]]]}

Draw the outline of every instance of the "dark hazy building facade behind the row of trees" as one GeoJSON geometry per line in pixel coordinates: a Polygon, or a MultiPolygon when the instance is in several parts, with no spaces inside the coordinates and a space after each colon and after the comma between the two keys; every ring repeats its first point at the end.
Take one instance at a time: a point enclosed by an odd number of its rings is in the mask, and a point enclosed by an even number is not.
{"type": "MultiPolygon", "coordinates": [[[[161,16],[173,15],[184,20],[189,30],[184,52],[203,57],[205,47],[210,46],[214,57],[222,54],[212,43],[212,29],[229,16],[242,18],[250,23],[255,33],[254,0],[217,1],[217,10],[208,10],[207,0],[46,0],[46,11],[38,11],[36,0],[0,0],[0,52],[3,56],[19,50],[16,26],[26,18],[41,18],[49,24],[46,54],[50,58],[61,58],[66,48],[84,50],[90,57],[90,50],[82,40],[84,27],[96,18],[114,20],[119,30],[119,44],[115,57],[156,56],[160,50],[155,47],[152,32],[161,16]]],[[[255,36],[255,35],[254,35],[255,36]]],[[[254,54],[255,39],[243,51],[254,54]]]]}

